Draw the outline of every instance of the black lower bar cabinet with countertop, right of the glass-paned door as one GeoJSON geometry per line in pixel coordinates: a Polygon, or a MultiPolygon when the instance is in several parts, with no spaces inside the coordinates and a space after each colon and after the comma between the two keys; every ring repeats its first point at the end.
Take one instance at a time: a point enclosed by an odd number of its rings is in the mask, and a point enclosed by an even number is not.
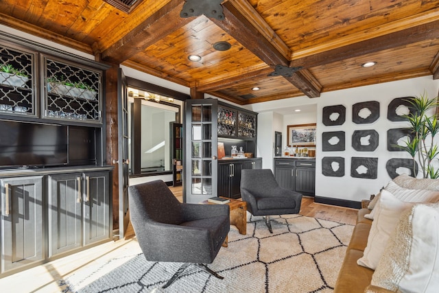
{"type": "Polygon", "coordinates": [[[226,159],[218,162],[218,196],[241,197],[241,170],[261,169],[262,159],[226,159]]]}

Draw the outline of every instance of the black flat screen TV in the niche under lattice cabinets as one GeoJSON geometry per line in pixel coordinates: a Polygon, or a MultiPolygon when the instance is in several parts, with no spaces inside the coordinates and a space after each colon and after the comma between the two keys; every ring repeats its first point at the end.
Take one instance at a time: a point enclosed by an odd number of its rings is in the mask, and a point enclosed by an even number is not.
{"type": "Polygon", "coordinates": [[[67,126],[0,121],[0,167],[67,165],[67,126]]]}

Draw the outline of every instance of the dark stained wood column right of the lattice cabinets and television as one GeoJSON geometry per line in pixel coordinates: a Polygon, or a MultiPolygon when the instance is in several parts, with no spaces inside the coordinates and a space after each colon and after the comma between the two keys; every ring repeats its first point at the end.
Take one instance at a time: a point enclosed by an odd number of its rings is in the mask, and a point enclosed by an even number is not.
{"type": "Polygon", "coordinates": [[[117,164],[113,164],[113,159],[117,161],[119,156],[118,145],[118,119],[117,119],[117,72],[119,65],[112,65],[106,71],[106,161],[108,165],[114,165],[115,169],[112,172],[112,225],[113,230],[119,228],[119,168],[117,164]]]}

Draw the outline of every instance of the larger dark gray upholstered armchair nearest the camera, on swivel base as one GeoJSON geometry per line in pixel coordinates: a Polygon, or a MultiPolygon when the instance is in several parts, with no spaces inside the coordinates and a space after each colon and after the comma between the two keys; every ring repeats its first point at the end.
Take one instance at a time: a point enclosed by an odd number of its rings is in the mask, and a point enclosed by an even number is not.
{"type": "Polygon", "coordinates": [[[180,203],[162,180],[128,187],[130,218],[148,261],[184,263],[163,286],[167,288],[190,264],[212,263],[230,230],[227,204],[180,203]]]}

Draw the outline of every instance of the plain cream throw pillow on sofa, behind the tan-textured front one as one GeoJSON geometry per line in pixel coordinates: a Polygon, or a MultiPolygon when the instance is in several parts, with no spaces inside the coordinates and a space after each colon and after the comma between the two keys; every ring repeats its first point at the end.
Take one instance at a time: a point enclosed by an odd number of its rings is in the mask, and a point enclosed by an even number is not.
{"type": "Polygon", "coordinates": [[[375,270],[378,261],[383,255],[383,250],[390,234],[398,224],[401,213],[410,209],[414,202],[403,202],[394,197],[389,191],[383,189],[379,201],[375,205],[375,218],[370,227],[368,244],[364,249],[363,257],[357,260],[360,266],[375,270]]]}

